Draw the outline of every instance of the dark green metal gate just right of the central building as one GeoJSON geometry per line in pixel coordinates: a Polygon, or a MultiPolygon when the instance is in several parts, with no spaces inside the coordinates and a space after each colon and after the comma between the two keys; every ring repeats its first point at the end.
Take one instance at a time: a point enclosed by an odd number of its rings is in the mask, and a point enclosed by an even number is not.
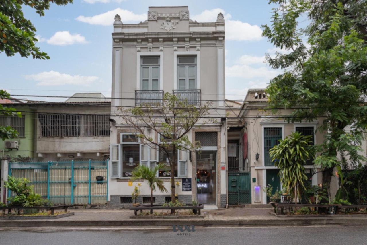
{"type": "Polygon", "coordinates": [[[228,171],[228,205],[250,204],[250,173],[228,171]]]}

